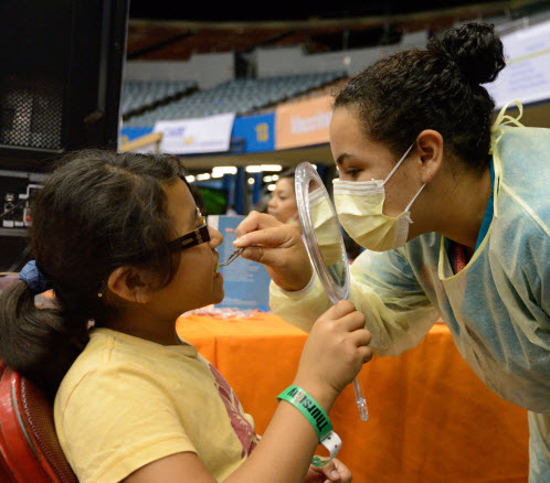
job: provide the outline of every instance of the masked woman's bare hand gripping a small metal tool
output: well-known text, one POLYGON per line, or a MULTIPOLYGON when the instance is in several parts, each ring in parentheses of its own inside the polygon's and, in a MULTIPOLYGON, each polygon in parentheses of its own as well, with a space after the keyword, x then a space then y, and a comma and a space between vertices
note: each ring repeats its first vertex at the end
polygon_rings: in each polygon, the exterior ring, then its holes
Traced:
POLYGON ((294 291, 307 286, 313 268, 296 226, 251 212, 237 226, 236 236, 233 245, 247 247, 242 257, 265 265, 272 280, 282 289, 294 291))

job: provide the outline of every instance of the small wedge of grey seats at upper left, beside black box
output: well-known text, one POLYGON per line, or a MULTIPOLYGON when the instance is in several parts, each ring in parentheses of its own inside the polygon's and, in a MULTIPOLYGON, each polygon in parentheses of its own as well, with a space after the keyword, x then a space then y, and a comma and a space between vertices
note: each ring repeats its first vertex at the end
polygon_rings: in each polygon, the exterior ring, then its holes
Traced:
POLYGON ((124 117, 197 89, 195 80, 124 80, 120 108, 124 117))

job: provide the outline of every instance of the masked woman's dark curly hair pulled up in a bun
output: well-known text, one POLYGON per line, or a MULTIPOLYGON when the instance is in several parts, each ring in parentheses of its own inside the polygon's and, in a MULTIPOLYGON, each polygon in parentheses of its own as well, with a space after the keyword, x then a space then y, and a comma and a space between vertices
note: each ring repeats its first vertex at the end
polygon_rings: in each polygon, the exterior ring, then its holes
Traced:
POLYGON ((432 37, 425 50, 379 60, 350 79, 334 108, 357 109, 364 135, 395 157, 424 129, 438 131, 445 150, 483 169, 490 147, 495 101, 482 84, 505 67, 494 26, 468 23, 432 37))

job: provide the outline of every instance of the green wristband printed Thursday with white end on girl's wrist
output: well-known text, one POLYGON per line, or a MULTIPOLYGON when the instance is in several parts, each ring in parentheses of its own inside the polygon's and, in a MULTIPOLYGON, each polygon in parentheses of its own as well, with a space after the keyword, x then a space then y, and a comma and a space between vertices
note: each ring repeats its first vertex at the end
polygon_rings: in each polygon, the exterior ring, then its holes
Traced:
POLYGON ((314 427, 319 438, 319 443, 329 451, 329 460, 315 457, 311 461, 315 466, 324 466, 338 454, 342 444, 340 437, 332 430, 332 423, 328 415, 309 394, 298 386, 288 386, 277 396, 277 400, 282 399, 292 404, 305 416, 314 427))

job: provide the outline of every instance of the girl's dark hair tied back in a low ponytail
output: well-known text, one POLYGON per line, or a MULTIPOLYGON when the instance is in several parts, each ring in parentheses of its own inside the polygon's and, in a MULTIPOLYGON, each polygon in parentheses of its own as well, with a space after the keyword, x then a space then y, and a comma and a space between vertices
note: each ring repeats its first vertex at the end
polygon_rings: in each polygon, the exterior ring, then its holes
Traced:
MULTIPOLYGON (((55 307, 36 308, 23 281, 0 297, 0 357, 53 398, 88 341, 88 322, 113 316, 104 291, 118 267, 159 275, 166 285, 179 258, 163 186, 183 178, 170 154, 82 150, 64 155, 32 206, 36 266, 52 281, 55 307)), ((184 178, 183 178, 184 180, 184 178)))

